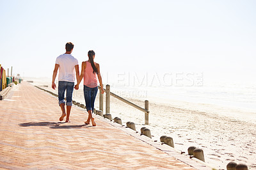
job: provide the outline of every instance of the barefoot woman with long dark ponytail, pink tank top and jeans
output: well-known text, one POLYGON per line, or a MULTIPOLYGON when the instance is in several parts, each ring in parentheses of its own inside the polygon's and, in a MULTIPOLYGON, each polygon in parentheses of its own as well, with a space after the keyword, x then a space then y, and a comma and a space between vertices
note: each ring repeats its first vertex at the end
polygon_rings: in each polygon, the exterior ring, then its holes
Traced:
POLYGON ((88 119, 84 123, 88 125, 92 120, 92 125, 96 126, 94 118, 92 117, 94 101, 98 91, 96 75, 98 76, 100 82, 101 93, 104 93, 104 89, 100 75, 100 65, 94 62, 95 52, 93 50, 89 50, 88 57, 88 61, 83 61, 82 63, 81 75, 77 81, 75 89, 79 88, 79 84, 84 78, 84 100, 86 104, 86 110, 88 112, 88 119))

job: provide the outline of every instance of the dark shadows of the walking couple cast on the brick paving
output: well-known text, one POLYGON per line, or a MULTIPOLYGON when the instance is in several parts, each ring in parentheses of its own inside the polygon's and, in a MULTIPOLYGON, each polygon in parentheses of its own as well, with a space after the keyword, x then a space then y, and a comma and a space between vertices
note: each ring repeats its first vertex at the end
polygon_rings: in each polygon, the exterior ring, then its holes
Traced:
POLYGON ((42 121, 42 122, 28 122, 28 123, 20 123, 20 127, 38 127, 38 126, 44 126, 44 127, 50 127, 50 128, 81 128, 81 127, 90 127, 84 125, 61 125, 65 122, 51 122, 51 121, 42 121))

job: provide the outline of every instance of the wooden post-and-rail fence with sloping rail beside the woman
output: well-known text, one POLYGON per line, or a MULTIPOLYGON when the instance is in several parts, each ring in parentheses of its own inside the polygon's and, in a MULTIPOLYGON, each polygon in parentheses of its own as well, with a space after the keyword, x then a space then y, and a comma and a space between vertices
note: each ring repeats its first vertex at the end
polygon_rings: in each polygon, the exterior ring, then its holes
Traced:
MULTIPOLYGON (((100 86, 99 86, 100 89, 100 86)), ((148 125, 148 100, 145 100, 145 108, 142 108, 136 104, 133 104, 132 102, 116 95, 115 93, 112 93, 110 91, 110 86, 106 85, 106 89, 104 89, 105 93, 106 93, 106 113, 110 113, 110 96, 117 98, 118 100, 121 100, 122 102, 125 102, 125 104, 129 104, 132 107, 138 109, 139 111, 142 111, 145 113, 145 125, 148 125)), ((101 89, 100 89, 100 97, 99 97, 99 109, 100 111, 103 111, 103 98, 104 98, 104 94, 101 93, 101 89)))

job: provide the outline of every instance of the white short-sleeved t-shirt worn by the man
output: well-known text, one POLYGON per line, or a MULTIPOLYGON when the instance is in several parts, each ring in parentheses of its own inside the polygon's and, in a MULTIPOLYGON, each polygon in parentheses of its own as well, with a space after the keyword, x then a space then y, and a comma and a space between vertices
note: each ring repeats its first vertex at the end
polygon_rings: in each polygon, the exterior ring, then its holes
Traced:
POLYGON ((61 54, 56 59, 56 64, 60 65, 59 81, 75 82, 75 66, 78 61, 71 54, 61 54))

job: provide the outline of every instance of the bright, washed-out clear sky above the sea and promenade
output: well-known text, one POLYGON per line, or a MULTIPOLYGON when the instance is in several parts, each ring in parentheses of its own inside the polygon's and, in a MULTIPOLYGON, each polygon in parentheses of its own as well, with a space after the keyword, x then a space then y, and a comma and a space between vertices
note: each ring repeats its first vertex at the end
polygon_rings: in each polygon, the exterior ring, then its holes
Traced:
POLYGON ((0 63, 51 77, 65 43, 101 72, 256 73, 256 1, 0 0, 0 63))

